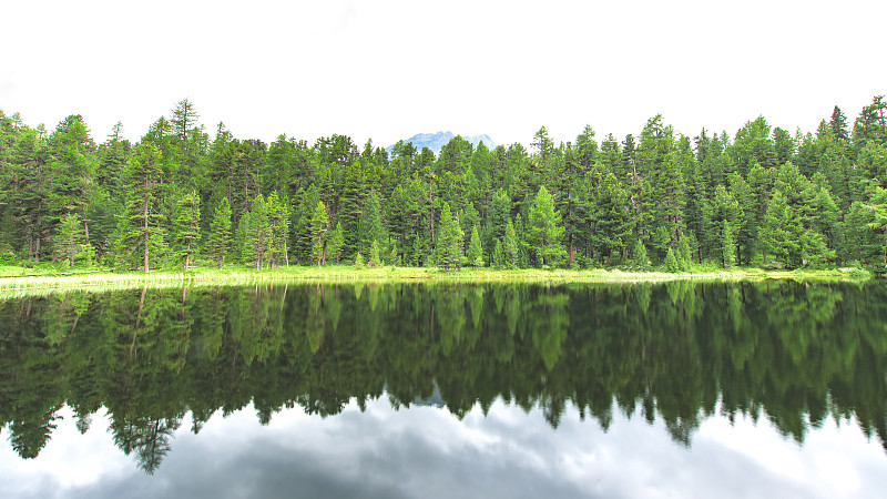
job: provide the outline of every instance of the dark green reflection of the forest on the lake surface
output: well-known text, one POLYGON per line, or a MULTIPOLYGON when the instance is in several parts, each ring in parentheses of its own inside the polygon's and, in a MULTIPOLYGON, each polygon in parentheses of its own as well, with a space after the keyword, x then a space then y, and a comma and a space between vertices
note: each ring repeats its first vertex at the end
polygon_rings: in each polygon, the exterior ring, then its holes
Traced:
POLYGON ((763 416, 798 442, 855 417, 884 445, 885 324, 880 283, 72 291, 0 303, 0 427, 33 458, 65 404, 81 432, 105 407, 149 473, 188 411, 196 434, 251 403, 267 424, 384 396, 439 396, 459 417, 538 406, 554 428, 568 404, 604 430, 661 418, 685 446, 715 414, 763 416))

